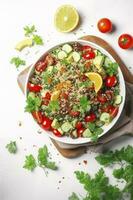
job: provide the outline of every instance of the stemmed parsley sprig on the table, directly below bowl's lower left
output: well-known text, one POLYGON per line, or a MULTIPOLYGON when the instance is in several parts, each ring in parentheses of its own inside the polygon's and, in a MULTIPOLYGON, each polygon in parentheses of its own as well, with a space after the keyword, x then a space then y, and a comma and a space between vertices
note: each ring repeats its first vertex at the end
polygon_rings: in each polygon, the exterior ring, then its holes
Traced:
POLYGON ((48 154, 47 146, 45 145, 44 147, 39 148, 39 150, 38 150, 39 166, 40 167, 46 167, 46 168, 49 168, 49 169, 52 169, 52 170, 56 170, 57 166, 56 166, 55 162, 48 161, 48 157, 49 157, 49 154, 48 154))

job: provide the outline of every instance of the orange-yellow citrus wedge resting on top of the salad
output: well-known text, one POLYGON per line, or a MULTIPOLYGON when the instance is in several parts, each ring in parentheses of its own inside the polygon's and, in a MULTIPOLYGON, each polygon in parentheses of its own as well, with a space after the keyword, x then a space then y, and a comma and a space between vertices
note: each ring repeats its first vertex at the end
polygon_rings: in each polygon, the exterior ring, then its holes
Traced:
POLYGON ((95 92, 97 93, 101 89, 103 84, 102 77, 96 72, 88 72, 85 75, 94 83, 95 92))

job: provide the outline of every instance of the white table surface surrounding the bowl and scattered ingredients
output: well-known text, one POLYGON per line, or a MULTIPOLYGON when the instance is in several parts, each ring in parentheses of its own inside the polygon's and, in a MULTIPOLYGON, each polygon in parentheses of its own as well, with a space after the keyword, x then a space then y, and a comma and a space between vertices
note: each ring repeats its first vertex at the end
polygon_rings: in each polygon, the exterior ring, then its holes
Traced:
MULTIPOLYGON (((45 42, 44 47, 33 48, 31 56, 27 55, 27 64, 36 60, 49 44, 58 40, 74 39, 84 34, 94 34, 111 43, 133 72, 133 50, 124 51, 117 45, 120 34, 133 34, 132 10, 132 0, 0 0, 0 200, 67 200, 72 191, 84 194, 73 172, 84 170, 94 174, 100 167, 94 159, 94 153, 88 152, 76 159, 65 159, 57 155, 55 147, 50 145, 50 139, 45 134, 39 135, 37 125, 29 114, 24 113, 25 99, 16 81, 18 73, 24 68, 17 71, 9 62, 11 57, 18 55, 14 46, 23 38, 23 27, 35 24, 45 42), (53 26, 56 8, 66 3, 74 5, 81 15, 82 24, 75 34, 59 33, 53 26), (113 21, 116 25, 115 32, 102 34, 97 30, 97 20, 102 17, 109 17, 113 21), (38 54, 35 54, 39 49, 38 54), (21 127, 18 125, 19 121, 22 122, 21 127), (9 154, 5 149, 10 140, 17 142, 16 155, 9 154), (53 159, 59 166, 58 171, 49 170, 48 177, 40 168, 34 172, 23 169, 25 155, 36 155, 38 147, 44 144, 48 145, 53 159), (87 160, 88 164, 85 165, 83 160, 87 160)), ((26 51, 21 54, 22 57, 25 57, 26 51)), ((133 143, 132 138, 121 138, 110 144, 110 148, 120 148, 129 143, 133 143)), ((110 177, 111 172, 111 169, 106 169, 110 177)), ((114 179, 111 178, 111 182, 114 182, 114 179)))

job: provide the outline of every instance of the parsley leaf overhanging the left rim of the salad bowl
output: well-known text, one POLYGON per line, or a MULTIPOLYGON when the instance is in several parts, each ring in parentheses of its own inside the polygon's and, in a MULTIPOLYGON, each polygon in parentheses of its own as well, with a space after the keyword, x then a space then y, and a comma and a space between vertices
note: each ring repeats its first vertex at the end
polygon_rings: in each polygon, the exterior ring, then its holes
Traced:
POLYGON ((27 97, 26 103, 27 103, 25 107, 26 112, 37 111, 41 106, 41 99, 39 97, 32 98, 29 96, 27 97))

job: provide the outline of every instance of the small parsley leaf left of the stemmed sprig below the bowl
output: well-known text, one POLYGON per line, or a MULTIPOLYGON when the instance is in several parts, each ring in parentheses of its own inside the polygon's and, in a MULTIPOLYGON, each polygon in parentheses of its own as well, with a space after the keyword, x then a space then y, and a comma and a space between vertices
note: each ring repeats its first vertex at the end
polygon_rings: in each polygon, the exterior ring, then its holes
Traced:
POLYGON ((23 168, 33 171, 36 168, 36 160, 32 154, 26 156, 25 164, 23 168))

